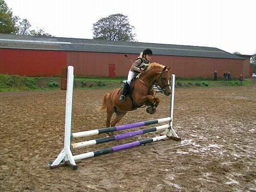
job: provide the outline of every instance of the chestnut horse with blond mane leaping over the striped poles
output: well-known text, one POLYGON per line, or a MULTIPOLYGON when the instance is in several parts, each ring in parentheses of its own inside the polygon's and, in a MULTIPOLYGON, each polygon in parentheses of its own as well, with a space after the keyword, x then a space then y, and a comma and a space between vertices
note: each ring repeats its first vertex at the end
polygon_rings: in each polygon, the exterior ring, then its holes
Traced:
MULTIPOLYGON (((154 114, 160 99, 154 96, 153 85, 158 84, 166 96, 171 95, 170 68, 159 63, 150 63, 146 71, 133 79, 131 95, 126 96, 124 102, 119 101, 122 88, 105 94, 100 110, 106 110, 107 112, 106 127, 115 126, 128 111, 142 106, 149 106, 146 111, 154 114), (110 123, 114 112, 116 114, 115 118, 110 123)), ((108 135, 113 136, 113 132, 108 135)))

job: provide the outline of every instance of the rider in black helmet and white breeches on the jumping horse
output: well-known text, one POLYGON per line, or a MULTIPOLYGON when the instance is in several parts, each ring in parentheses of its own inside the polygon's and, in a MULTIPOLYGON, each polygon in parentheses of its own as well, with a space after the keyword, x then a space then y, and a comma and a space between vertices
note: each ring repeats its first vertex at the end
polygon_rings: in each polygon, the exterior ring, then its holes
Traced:
POLYGON ((120 101, 125 101, 125 95, 129 90, 131 80, 136 77, 139 73, 143 72, 144 69, 147 69, 149 65, 149 60, 151 59, 153 52, 151 49, 145 49, 137 58, 137 60, 132 63, 130 71, 128 73, 127 81, 124 85, 124 88, 121 92, 121 96, 119 97, 120 101))

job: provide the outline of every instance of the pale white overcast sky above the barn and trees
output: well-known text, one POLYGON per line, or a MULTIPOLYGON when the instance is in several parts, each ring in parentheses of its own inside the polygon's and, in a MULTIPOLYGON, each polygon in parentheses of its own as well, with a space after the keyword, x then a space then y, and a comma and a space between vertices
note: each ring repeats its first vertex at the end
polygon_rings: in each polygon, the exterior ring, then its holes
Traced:
POLYGON ((5 0, 13 14, 56 37, 92 38, 92 24, 127 15, 136 40, 256 53, 256 0, 5 0))

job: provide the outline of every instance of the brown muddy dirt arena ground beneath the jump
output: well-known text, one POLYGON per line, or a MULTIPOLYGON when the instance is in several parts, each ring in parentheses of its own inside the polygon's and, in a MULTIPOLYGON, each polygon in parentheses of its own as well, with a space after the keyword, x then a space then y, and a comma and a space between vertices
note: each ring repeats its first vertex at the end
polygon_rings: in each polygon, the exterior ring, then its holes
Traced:
MULTIPOLYGON (((95 109, 108 91, 74 90, 73 132, 104 127, 105 114, 95 109)), ((141 108, 119 125, 167 117, 170 97, 158 95, 154 115, 141 108)), ((85 159, 75 171, 48 167, 63 148, 65 97, 65 91, 0 92, 0 191, 256 191, 255 83, 178 88, 173 125, 181 142, 168 139, 85 159)))

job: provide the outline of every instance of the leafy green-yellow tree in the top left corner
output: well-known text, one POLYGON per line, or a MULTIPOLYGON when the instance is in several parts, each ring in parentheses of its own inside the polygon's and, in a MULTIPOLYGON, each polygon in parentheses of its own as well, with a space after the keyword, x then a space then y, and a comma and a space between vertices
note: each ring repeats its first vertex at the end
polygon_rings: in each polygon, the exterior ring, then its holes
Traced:
POLYGON ((13 16, 13 11, 8 8, 4 0, 0 0, 0 33, 15 33, 15 22, 17 19, 13 16))

